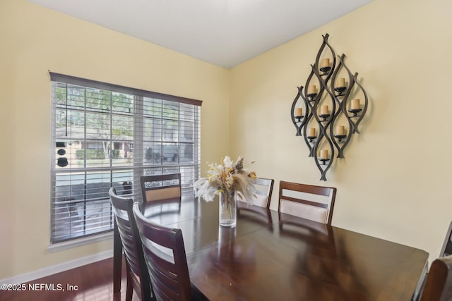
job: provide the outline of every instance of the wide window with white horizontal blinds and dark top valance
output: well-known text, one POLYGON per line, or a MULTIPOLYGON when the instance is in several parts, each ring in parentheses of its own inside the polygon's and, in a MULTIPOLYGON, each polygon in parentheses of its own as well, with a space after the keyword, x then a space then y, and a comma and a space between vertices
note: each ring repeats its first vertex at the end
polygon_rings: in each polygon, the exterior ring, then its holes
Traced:
POLYGON ((200 176, 201 101, 50 73, 52 233, 112 231, 108 190, 141 199, 143 174, 200 176))

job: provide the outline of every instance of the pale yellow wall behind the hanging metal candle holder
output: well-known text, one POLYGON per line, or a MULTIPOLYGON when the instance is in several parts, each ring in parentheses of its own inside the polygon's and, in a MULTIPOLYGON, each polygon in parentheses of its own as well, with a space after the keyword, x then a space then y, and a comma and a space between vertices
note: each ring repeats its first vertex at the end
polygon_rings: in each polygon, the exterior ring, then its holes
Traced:
MULTIPOLYGON (((232 154, 258 176, 338 188, 333 225, 437 257, 452 220, 451 1, 376 0, 231 70, 232 154), (370 106, 327 182, 290 107, 322 35, 367 91, 370 106)), ((302 17, 302 14, 300 15, 302 17)), ((278 206, 278 185, 271 207, 278 206)))

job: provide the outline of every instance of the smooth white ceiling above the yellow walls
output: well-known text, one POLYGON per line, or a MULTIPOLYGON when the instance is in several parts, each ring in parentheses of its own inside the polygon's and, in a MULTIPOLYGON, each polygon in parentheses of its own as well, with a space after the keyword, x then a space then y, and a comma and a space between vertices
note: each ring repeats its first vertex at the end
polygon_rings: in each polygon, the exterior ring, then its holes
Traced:
POLYGON ((225 68, 372 0, 29 0, 225 68))

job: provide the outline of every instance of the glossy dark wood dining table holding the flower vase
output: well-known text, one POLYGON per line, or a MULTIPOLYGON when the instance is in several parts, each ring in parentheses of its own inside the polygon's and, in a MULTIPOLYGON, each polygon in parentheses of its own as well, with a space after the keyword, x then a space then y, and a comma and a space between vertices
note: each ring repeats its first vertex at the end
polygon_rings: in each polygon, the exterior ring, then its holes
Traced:
POLYGON ((182 229, 191 284, 205 300, 408 301, 427 266, 415 247, 241 202, 234 228, 219 226, 218 200, 191 193, 144 214, 182 229))

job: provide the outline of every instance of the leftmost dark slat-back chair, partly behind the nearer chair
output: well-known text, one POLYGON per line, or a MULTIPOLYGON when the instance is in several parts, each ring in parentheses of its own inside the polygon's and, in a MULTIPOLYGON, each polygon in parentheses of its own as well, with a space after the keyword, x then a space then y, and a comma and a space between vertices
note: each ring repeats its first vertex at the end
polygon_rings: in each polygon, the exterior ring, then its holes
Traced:
POLYGON ((133 290, 140 300, 155 300, 143 257, 140 234, 133 216, 133 199, 117 195, 115 188, 110 188, 108 195, 114 212, 114 227, 119 231, 126 257, 126 300, 132 300, 133 290))

